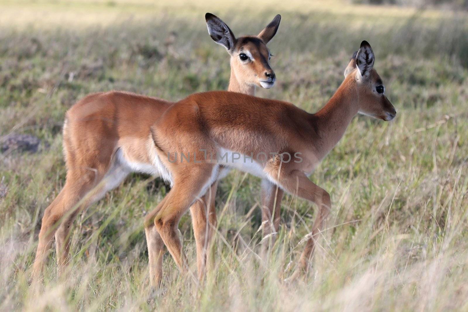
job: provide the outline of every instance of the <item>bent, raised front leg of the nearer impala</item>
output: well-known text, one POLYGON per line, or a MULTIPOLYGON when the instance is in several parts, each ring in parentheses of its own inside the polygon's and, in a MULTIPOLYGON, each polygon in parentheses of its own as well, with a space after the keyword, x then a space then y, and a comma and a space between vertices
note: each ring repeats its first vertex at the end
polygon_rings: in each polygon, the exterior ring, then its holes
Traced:
MULTIPOLYGON (((317 216, 312 226, 311 237, 307 240, 306 247, 299 260, 300 270, 302 272, 307 272, 309 260, 314 252, 315 241, 331 209, 330 195, 320 186, 310 181, 302 171, 293 170, 288 173, 285 173, 285 170, 282 171, 278 184, 287 192, 312 201, 318 206, 317 216)), ((298 273, 294 274, 294 276, 300 273, 299 271, 297 272, 298 273)))

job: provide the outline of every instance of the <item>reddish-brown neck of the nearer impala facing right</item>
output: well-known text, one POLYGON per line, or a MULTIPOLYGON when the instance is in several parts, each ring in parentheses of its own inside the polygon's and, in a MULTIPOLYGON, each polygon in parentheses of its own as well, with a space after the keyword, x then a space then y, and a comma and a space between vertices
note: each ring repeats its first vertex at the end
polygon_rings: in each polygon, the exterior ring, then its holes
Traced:
POLYGON ((313 114, 314 127, 319 134, 325 156, 343 137, 351 119, 358 113, 358 98, 354 81, 345 80, 320 111, 313 114))

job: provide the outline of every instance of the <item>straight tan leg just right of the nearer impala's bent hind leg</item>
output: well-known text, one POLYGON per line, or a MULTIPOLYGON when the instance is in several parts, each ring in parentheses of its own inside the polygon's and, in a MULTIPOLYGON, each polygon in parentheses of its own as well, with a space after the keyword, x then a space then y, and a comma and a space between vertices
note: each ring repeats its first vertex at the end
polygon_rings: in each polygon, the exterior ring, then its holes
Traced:
POLYGON ((193 232, 197 245, 198 279, 202 281, 206 275, 206 267, 214 267, 210 253, 210 243, 213 230, 216 228, 215 195, 218 182, 214 182, 203 197, 190 207, 193 232), (208 220, 208 223, 206 222, 208 220))

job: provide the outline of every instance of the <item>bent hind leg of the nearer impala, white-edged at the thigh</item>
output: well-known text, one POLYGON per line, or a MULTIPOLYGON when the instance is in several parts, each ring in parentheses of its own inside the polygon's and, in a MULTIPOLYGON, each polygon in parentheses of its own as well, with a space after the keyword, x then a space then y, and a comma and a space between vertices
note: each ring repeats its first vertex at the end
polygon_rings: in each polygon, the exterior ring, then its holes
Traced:
POLYGON ((212 185, 217 176, 215 170, 217 169, 213 164, 199 164, 183 170, 184 175, 175 178, 174 187, 148 218, 154 218, 154 224, 164 245, 182 272, 186 269, 186 261, 183 258, 177 226, 190 205, 212 185))

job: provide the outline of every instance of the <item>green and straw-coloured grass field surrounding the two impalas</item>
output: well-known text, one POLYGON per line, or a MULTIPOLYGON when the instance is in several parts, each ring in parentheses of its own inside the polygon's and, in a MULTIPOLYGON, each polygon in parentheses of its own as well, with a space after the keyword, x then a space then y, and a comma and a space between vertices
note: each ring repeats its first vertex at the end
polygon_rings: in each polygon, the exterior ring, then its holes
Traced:
MULTIPOLYGON (((468 14, 348 1, 0 1, 0 142, 43 141, 0 154, 0 310, 447 311, 468 310, 468 14), (333 209, 305 281, 295 267, 314 207, 286 196, 277 243, 261 249, 260 181, 233 171, 218 189, 216 267, 204 285, 179 278, 167 253, 160 292, 149 287, 143 218, 167 193, 134 174, 78 217, 72 272, 51 257, 44 288, 29 269, 44 209, 65 182, 64 114, 96 91, 178 100, 226 89, 227 52, 205 12, 234 34, 282 15, 269 44, 278 83, 260 97, 318 110, 367 40, 398 114, 358 116, 310 177, 333 209), (176 40, 166 45, 166 38, 176 40)), ((196 270, 190 215, 179 226, 196 270)))

